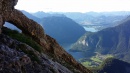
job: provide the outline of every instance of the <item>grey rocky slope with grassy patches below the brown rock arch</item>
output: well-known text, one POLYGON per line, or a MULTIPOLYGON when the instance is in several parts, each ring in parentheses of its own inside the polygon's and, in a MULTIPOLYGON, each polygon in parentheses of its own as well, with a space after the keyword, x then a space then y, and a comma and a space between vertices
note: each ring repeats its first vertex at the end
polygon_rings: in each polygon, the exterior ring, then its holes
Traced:
POLYGON ((0 73, 72 73, 32 47, 0 35, 0 73))

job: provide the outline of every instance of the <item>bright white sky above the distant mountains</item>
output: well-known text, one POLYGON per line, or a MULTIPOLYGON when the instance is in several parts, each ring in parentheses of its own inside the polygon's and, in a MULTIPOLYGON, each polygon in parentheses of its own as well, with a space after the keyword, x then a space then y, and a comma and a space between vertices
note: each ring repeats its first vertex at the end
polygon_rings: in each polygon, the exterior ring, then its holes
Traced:
POLYGON ((28 12, 130 11, 130 0, 18 0, 15 8, 28 12))

